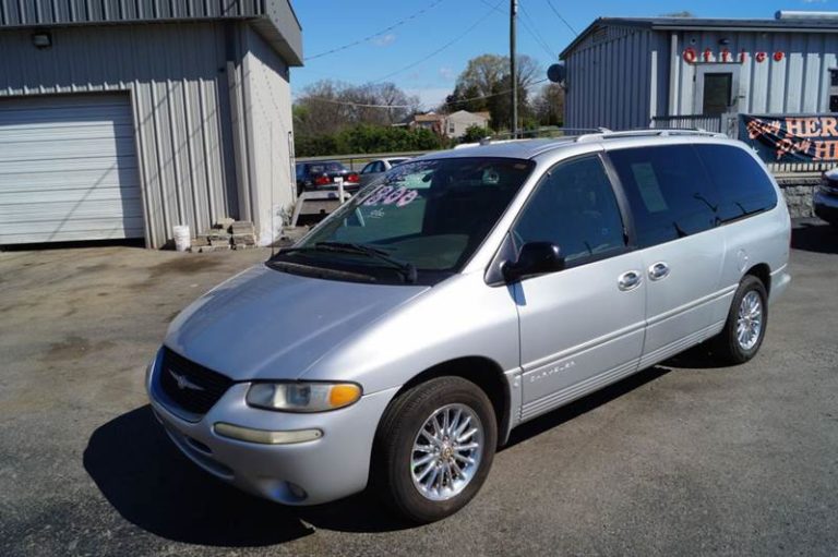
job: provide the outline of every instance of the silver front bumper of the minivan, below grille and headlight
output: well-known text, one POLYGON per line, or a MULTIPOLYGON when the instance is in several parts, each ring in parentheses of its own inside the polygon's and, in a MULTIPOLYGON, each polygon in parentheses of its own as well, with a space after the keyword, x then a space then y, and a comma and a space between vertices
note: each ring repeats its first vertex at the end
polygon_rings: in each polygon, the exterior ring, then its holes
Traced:
POLYGON ((159 356, 149 366, 146 388, 175 445, 216 477, 286 505, 318 505, 363 491, 379 420, 398 390, 366 395, 332 412, 295 414, 247 405, 250 384, 237 383, 206 414, 191 421, 166 402, 158 370, 159 356), (323 435, 306 443, 262 445, 219 436, 213 429, 219 422, 268 431, 320 429, 323 435))

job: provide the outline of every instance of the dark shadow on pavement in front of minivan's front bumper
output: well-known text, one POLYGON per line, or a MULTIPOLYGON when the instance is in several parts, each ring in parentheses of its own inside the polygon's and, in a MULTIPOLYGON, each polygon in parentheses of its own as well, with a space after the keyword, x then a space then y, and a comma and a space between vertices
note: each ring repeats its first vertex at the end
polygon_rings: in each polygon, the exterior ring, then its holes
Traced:
POLYGON ((84 468, 123 518, 177 542, 266 546, 314 533, 306 522, 358 532, 409 528, 388 517, 366 494, 331 505, 294 508, 242 493, 180 455, 148 405, 96 429, 84 451, 84 468))

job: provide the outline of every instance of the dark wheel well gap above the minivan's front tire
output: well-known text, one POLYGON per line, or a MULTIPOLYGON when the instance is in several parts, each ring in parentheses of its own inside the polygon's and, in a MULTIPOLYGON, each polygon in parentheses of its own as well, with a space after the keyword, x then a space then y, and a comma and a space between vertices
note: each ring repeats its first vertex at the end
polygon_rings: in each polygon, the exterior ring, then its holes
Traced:
POLYGON ((486 392, 492 402, 494 415, 498 419, 498 445, 506 443, 506 431, 510 423, 510 389, 501 366, 488 358, 458 358, 436 364, 402 386, 396 397, 420 383, 443 376, 463 377, 486 392))

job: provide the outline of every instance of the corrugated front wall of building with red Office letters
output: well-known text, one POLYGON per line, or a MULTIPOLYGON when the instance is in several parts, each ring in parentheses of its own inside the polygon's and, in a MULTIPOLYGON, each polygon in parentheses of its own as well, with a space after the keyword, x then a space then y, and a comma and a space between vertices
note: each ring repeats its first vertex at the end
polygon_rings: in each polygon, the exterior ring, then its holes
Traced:
MULTIPOLYGON (((657 32, 669 40, 670 33, 657 32)), ((680 78, 674 95, 673 114, 694 113, 695 75, 701 64, 690 64, 682 58, 686 47, 701 56, 705 48, 713 51, 711 60, 720 56, 720 41, 727 39, 733 57, 742 49, 747 56, 740 69, 739 112, 793 113, 828 112, 829 69, 838 68, 838 34, 835 33, 763 33, 763 32, 679 32, 677 48, 680 78), (756 52, 766 52, 764 62, 756 62, 756 52), (771 55, 783 52, 781 61, 771 55)), ((667 57, 669 63, 669 57, 667 57)), ((721 70, 720 70, 721 71, 721 70)))

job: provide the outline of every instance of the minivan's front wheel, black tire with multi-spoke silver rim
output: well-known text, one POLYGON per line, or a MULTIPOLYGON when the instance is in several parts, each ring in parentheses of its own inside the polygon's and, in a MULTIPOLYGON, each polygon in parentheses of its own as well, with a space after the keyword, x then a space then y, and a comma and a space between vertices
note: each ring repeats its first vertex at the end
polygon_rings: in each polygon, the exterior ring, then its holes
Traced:
POLYGON ((387 505, 411 522, 443 519, 462 509, 480 489, 496 444, 494 409, 482 389, 460 377, 431 379, 399 395, 384 412, 375 435, 372 486, 387 505), (446 413, 451 433, 465 427, 459 444, 451 444, 454 436, 438 444, 431 440, 431 420, 442 426, 446 413), (467 448, 475 444, 479 449, 467 448), (415 451, 418 446, 426 450, 415 451), (432 447, 436 452, 428 450, 432 447), (431 460, 420 464, 422 458, 431 460), (471 464, 464 460, 469 458, 471 464), (443 463, 436 464, 438 459, 443 459, 443 463), (450 462, 462 465, 462 471, 458 473, 450 462), (445 473, 446 465, 450 475, 445 473))

